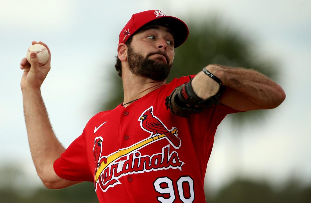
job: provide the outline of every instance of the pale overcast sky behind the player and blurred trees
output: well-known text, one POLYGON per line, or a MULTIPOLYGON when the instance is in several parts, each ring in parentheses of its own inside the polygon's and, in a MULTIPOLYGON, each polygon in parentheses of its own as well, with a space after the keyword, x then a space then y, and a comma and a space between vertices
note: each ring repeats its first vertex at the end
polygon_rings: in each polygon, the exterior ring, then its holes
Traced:
POLYGON ((41 40, 51 50, 52 68, 42 95, 53 129, 67 147, 96 113, 99 98, 111 93, 111 78, 105 72, 113 69, 119 32, 133 13, 150 9, 186 23, 217 14, 225 24, 249 36, 260 56, 281 62, 278 82, 285 90, 285 101, 268 110, 269 116, 262 122, 238 130, 232 130, 230 118, 225 118, 216 133, 207 183, 217 188, 235 175, 264 178, 274 185, 291 176, 310 182, 311 4, 307 0, 1 0, 2 167, 10 162, 16 166, 18 160, 18 168, 27 177, 35 177, 29 184, 39 182, 30 156, 19 84, 19 63, 31 41, 41 40), (12 144, 17 148, 12 150, 12 144))

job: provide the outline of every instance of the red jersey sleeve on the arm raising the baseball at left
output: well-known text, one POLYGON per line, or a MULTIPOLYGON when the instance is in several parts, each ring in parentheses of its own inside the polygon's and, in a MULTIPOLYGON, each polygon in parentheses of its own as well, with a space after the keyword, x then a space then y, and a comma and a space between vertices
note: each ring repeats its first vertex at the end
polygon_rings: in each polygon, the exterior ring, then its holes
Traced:
POLYGON ((55 173, 66 180, 94 182, 89 168, 85 132, 75 139, 61 157, 54 162, 55 173))

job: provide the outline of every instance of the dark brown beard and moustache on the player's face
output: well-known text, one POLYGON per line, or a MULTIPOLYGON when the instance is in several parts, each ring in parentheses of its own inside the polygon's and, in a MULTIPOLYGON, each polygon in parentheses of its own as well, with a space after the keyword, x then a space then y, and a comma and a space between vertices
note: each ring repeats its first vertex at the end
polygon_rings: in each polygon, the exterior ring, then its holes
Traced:
POLYGON ((146 57, 135 52, 131 46, 128 46, 128 66, 130 71, 138 76, 150 78, 155 81, 164 81, 169 77, 173 63, 169 64, 169 57, 165 52, 149 53, 146 57), (161 61, 148 59, 153 54, 161 54, 166 59, 166 64, 161 61))

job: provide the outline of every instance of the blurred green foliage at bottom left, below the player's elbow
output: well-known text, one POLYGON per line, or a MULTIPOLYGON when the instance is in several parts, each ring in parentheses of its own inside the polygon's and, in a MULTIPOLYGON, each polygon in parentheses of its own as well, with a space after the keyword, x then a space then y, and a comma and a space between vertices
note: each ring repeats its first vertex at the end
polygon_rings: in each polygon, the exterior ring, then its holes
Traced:
POLYGON ((1 203, 96 203, 94 183, 83 182, 62 190, 30 186, 29 177, 10 163, 0 168, 1 203))

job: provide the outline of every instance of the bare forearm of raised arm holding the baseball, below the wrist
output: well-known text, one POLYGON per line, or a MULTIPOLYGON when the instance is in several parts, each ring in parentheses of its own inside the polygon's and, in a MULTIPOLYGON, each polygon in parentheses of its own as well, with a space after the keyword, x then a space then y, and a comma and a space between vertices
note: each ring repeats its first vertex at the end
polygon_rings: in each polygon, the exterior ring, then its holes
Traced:
POLYGON ((53 162, 65 149, 54 135, 40 90, 26 88, 22 93, 30 152, 42 179, 44 171, 51 170, 53 162))

